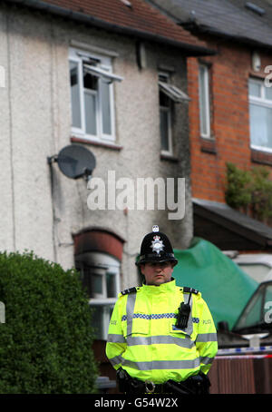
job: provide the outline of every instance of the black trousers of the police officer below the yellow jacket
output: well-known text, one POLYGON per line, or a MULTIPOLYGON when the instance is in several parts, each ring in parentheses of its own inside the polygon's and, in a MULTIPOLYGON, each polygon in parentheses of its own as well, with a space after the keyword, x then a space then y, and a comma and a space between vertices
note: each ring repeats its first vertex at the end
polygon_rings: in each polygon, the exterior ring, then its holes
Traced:
POLYGON ((209 378, 202 372, 181 382, 168 380, 163 384, 155 385, 150 381, 144 382, 136 378, 131 378, 124 369, 119 368, 117 371, 117 381, 119 390, 129 395, 146 393, 201 395, 209 394, 210 387, 209 378))

